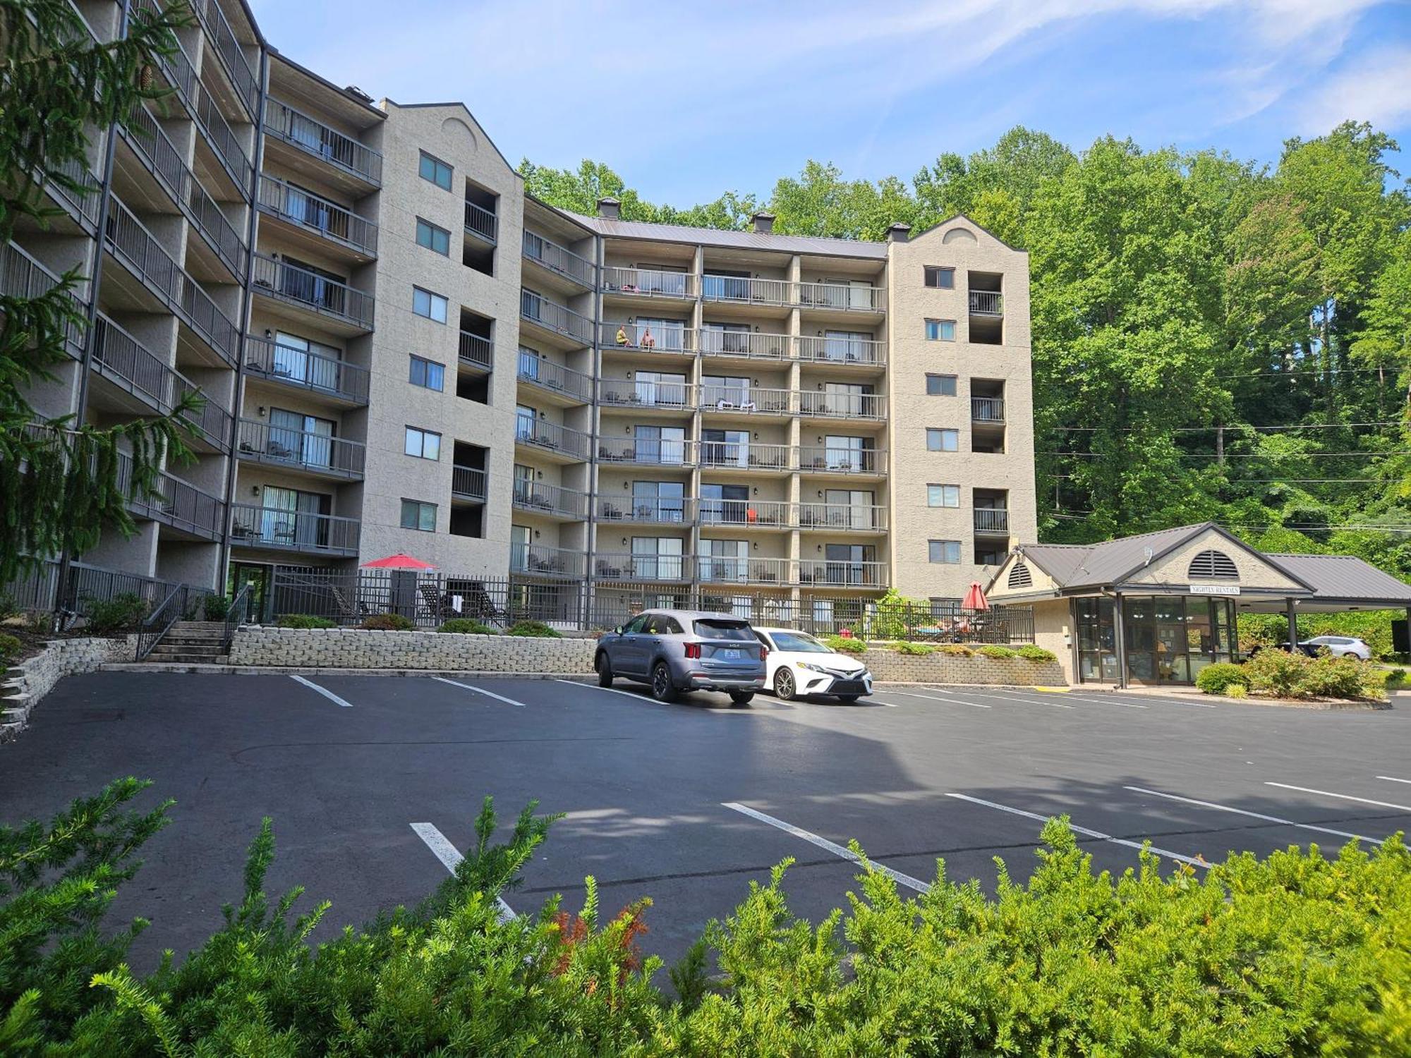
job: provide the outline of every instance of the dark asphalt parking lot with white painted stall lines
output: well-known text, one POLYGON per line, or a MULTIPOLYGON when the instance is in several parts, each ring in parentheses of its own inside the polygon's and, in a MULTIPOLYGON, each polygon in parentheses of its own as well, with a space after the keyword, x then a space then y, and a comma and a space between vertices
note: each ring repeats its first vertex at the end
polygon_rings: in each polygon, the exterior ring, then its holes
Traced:
MULTIPOLYGON (((1143 839, 1199 866, 1228 851, 1336 848, 1411 825, 1411 710, 1322 712, 1077 690, 880 690, 856 705, 689 694, 619 681, 95 673, 63 680, 0 746, 0 821, 48 815, 124 774, 174 797, 174 825, 116 904, 152 927, 134 952, 199 944, 238 896, 272 815, 271 889, 330 899, 323 934, 411 903, 464 849, 485 794, 504 822, 566 813, 507 893, 604 911, 650 896, 643 948, 677 958, 751 879, 792 856, 787 889, 821 917, 855 887, 848 839, 924 886, 1026 877, 1043 820, 1067 813, 1102 868, 1143 839)), ((1367 845, 1370 848, 1370 844, 1367 845)))

